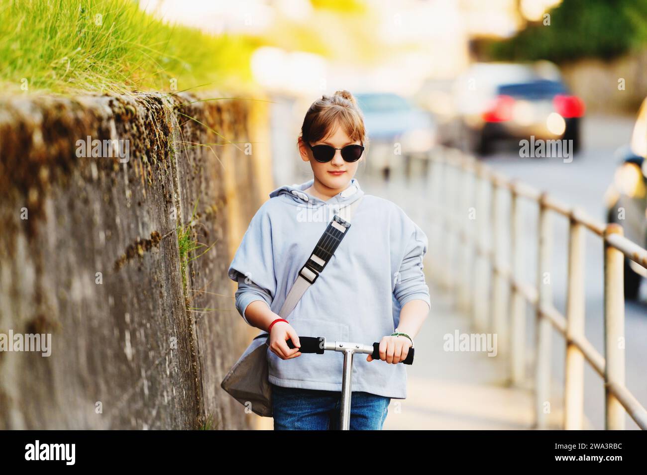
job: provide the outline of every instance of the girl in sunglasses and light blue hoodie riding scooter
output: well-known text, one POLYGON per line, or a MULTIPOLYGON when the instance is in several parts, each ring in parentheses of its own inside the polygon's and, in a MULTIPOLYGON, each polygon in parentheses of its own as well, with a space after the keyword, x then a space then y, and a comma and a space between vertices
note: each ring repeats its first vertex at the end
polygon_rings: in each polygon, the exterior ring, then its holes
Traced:
MULTIPOLYGON (((364 195, 355 176, 366 131, 347 90, 314 101, 298 149, 313 169, 300 185, 275 189, 252 218, 228 270, 236 308, 267 331, 274 429, 338 428, 343 356, 299 352, 299 335, 327 341, 380 342, 380 359, 353 364, 351 430, 381 429, 391 399, 406 399, 404 364, 430 311, 422 273, 427 237, 389 200, 364 195), (364 196, 321 275, 292 312, 283 302, 331 217, 364 196), (286 343, 292 339, 295 348, 286 343), (384 363, 386 362, 386 363, 384 363), (388 364, 387 364, 388 363, 388 364)), ((343 217, 343 215, 342 215, 343 217)))

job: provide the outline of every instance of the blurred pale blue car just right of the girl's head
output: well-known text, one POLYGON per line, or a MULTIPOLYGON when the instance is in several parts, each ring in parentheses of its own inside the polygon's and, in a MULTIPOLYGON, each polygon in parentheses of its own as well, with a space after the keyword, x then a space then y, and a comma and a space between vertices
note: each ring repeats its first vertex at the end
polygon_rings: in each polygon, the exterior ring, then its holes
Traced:
POLYGON ((426 158, 435 143, 430 113, 390 92, 364 92, 355 98, 369 136, 368 167, 388 178, 394 166, 408 169, 411 158, 426 158))

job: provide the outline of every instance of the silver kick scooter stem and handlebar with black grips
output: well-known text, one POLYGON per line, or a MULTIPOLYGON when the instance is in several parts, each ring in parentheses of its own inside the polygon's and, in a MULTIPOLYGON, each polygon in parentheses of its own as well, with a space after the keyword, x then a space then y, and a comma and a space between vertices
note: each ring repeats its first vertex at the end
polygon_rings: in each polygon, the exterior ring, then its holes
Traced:
MULTIPOLYGON (((342 403, 340 408, 340 428, 350 430, 351 425, 351 385, 353 383, 353 355, 361 353, 371 355, 374 360, 380 360, 380 344, 373 343, 373 346, 361 343, 348 343, 346 341, 335 341, 329 343, 323 337, 299 337, 302 353, 314 353, 323 355, 325 350, 342 352, 344 354, 344 375, 342 376, 342 403)), ((287 341, 287 346, 294 348, 292 340, 287 341)), ((413 364, 413 348, 409 348, 404 364, 413 364)))

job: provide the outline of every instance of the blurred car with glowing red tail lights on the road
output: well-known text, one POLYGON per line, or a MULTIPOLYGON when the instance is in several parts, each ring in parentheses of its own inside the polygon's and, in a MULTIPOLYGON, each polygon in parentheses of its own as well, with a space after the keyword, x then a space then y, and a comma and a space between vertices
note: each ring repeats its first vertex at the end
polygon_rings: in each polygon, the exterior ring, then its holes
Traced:
POLYGON ((580 149, 584 102, 552 63, 476 63, 457 79, 455 101, 464 150, 485 155, 496 140, 531 136, 580 149))

